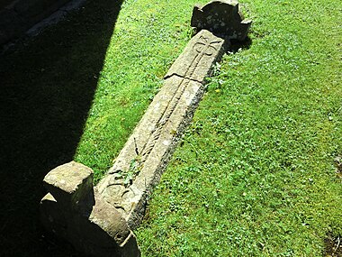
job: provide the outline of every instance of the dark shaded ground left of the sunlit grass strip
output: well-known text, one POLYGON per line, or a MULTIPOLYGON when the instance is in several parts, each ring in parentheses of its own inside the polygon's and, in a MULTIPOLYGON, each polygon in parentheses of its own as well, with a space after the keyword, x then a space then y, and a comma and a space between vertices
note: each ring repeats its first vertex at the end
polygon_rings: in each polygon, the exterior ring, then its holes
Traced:
POLYGON ((0 56, 0 256, 76 256, 42 235, 42 179, 71 161, 122 0, 87 1, 0 56))

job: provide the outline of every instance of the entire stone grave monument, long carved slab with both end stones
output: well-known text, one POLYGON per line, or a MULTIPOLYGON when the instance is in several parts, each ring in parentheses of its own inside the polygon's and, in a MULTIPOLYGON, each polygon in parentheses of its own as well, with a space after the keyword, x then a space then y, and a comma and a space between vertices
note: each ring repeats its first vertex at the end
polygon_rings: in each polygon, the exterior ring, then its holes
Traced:
POLYGON ((244 41, 251 21, 236 1, 193 8, 196 34, 165 76, 164 85, 130 135, 112 168, 93 186, 93 171, 71 161, 44 179, 40 202, 47 230, 89 256, 140 256, 133 230, 202 98, 205 78, 231 39, 244 41))

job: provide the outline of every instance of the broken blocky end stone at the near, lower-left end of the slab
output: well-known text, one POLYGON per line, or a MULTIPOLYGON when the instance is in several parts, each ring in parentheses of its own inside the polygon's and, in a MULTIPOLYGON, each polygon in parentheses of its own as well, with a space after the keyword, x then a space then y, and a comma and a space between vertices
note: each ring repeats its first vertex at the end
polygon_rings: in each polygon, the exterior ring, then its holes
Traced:
POLYGON ((94 189, 93 170, 75 161, 44 178, 42 225, 87 256, 140 256, 135 235, 121 214, 94 189))

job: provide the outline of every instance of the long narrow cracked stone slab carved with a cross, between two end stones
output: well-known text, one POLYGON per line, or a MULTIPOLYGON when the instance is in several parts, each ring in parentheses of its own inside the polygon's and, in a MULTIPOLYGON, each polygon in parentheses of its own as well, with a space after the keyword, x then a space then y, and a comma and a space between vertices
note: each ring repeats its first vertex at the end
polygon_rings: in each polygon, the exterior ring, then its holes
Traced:
POLYGON ((103 199, 126 218, 130 229, 139 225, 150 189, 166 169, 175 144, 202 97, 204 78, 220 60, 225 45, 226 41, 206 30, 193 37, 97 186, 103 199))

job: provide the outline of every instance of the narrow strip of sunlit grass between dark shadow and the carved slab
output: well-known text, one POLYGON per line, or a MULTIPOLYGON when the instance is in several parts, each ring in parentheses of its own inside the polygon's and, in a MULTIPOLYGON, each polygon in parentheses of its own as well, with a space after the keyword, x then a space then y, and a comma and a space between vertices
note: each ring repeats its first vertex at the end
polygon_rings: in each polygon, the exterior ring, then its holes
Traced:
POLYGON ((94 170, 96 181, 111 167, 189 41, 196 2, 127 0, 121 6, 75 157, 94 170))

